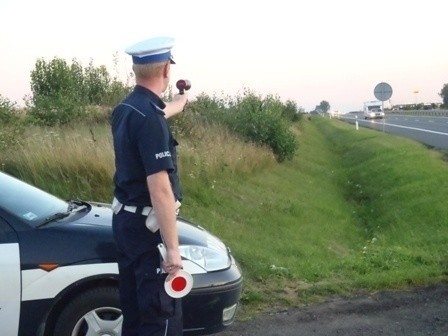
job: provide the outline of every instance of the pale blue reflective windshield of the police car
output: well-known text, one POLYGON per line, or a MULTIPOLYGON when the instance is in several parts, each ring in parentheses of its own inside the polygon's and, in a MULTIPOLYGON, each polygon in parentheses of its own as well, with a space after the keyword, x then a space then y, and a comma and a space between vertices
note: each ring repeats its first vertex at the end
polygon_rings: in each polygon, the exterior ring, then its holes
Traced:
POLYGON ((0 208, 38 226, 56 214, 66 213, 69 203, 0 172, 0 208))

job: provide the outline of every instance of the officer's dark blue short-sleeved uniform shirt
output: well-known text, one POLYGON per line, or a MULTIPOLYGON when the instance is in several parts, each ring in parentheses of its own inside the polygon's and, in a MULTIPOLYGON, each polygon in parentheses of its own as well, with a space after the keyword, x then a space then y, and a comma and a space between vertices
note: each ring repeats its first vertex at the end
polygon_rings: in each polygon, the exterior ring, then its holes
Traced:
POLYGON ((165 118, 165 103, 152 91, 136 86, 112 113, 115 149, 115 197, 123 204, 147 206, 147 176, 166 170, 173 193, 182 200, 177 176, 176 146, 165 118))

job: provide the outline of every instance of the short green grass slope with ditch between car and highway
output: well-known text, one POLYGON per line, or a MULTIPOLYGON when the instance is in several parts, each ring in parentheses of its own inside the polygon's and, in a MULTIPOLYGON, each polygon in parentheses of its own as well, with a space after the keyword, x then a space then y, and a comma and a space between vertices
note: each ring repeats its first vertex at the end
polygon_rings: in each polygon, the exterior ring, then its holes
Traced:
POLYGON ((338 121, 313 119, 300 131, 292 162, 222 177, 215 202, 185 210, 241 262, 244 315, 446 281, 443 155, 338 121))

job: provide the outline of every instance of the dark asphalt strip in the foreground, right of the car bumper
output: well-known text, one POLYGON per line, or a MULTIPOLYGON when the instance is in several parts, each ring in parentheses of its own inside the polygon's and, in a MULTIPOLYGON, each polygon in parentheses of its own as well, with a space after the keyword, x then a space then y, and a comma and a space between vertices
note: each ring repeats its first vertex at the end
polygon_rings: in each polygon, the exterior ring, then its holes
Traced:
POLYGON ((272 309, 220 336, 447 336, 448 284, 272 309))

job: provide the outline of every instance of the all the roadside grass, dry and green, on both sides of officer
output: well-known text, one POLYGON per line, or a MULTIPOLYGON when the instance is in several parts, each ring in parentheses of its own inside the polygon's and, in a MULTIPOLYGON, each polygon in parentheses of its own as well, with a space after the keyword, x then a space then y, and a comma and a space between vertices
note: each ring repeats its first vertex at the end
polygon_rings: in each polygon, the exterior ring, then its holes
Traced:
MULTIPOLYGON (((222 238, 241 263, 240 318, 448 279, 441 153, 337 120, 304 120, 296 131, 298 153, 282 164, 221 129, 180 141, 182 213, 222 238)), ((107 126, 51 132, 28 130, 19 148, 2 153, 2 170, 63 198, 109 201, 107 126)))

